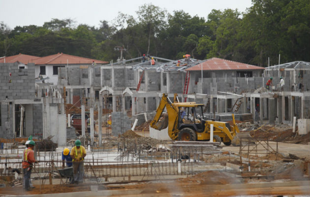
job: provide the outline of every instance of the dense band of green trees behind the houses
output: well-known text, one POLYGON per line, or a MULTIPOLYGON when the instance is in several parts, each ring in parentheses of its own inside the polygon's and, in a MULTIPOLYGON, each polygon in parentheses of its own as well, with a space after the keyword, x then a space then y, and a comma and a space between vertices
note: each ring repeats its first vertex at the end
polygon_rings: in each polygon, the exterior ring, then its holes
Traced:
POLYGON ((0 22, 0 57, 24 53, 36 56, 58 52, 111 61, 150 54, 182 59, 219 57, 267 66, 310 61, 309 0, 252 0, 245 13, 212 10, 207 20, 183 10, 172 14, 154 4, 138 7, 137 18, 119 13, 114 24, 75 25, 72 19, 52 19, 42 27, 0 22))

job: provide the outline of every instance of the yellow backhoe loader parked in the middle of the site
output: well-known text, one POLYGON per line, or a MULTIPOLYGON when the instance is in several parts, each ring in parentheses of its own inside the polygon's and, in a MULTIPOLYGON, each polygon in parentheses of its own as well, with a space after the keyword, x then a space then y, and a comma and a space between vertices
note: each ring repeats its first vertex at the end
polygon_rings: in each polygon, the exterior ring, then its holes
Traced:
POLYGON ((209 141, 210 127, 214 125, 214 139, 216 142, 223 142, 230 145, 232 139, 239 132, 235 123, 234 114, 233 125, 226 122, 206 120, 203 116, 203 104, 196 102, 178 102, 176 96, 174 102, 163 94, 150 126, 155 130, 162 130, 168 126, 168 135, 173 140, 182 141, 209 141), (159 121, 162 112, 166 108, 167 114, 159 121))

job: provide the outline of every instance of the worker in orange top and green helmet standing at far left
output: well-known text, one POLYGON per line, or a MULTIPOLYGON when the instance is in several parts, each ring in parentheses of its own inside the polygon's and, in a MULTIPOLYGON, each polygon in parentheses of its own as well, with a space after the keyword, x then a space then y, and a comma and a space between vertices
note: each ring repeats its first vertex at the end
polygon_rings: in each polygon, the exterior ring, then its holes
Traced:
POLYGON ((33 140, 30 140, 30 142, 27 145, 28 148, 25 149, 23 155, 22 167, 24 173, 24 184, 25 184, 24 189, 27 191, 31 191, 30 177, 31 177, 32 164, 36 163, 33 152, 33 147, 35 143, 33 140))

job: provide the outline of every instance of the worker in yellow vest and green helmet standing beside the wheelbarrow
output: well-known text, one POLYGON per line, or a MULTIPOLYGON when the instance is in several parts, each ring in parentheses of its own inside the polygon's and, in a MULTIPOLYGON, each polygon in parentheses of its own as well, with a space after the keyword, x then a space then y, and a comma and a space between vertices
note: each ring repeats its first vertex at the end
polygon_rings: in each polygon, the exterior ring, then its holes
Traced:
POLYGON ((86 150, 84 146, 81 146, 81 141, 77 139, 75 146, 71 148, 70 157, 73 162, 73 182, 83 183, 84 176, 84 158, 86 156, 86 150))

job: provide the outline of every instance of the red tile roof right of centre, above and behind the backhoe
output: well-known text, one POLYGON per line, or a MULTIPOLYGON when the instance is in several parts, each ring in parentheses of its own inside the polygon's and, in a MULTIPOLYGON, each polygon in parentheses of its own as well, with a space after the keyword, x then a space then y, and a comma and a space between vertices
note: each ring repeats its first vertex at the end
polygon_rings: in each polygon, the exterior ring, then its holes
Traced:
POLYGON ((199 65, 187 68, 186 71, 193 70, 263 70, 263 67, 248 65, 240 62, 224 60, 220 58, 211 58, 199 65))

